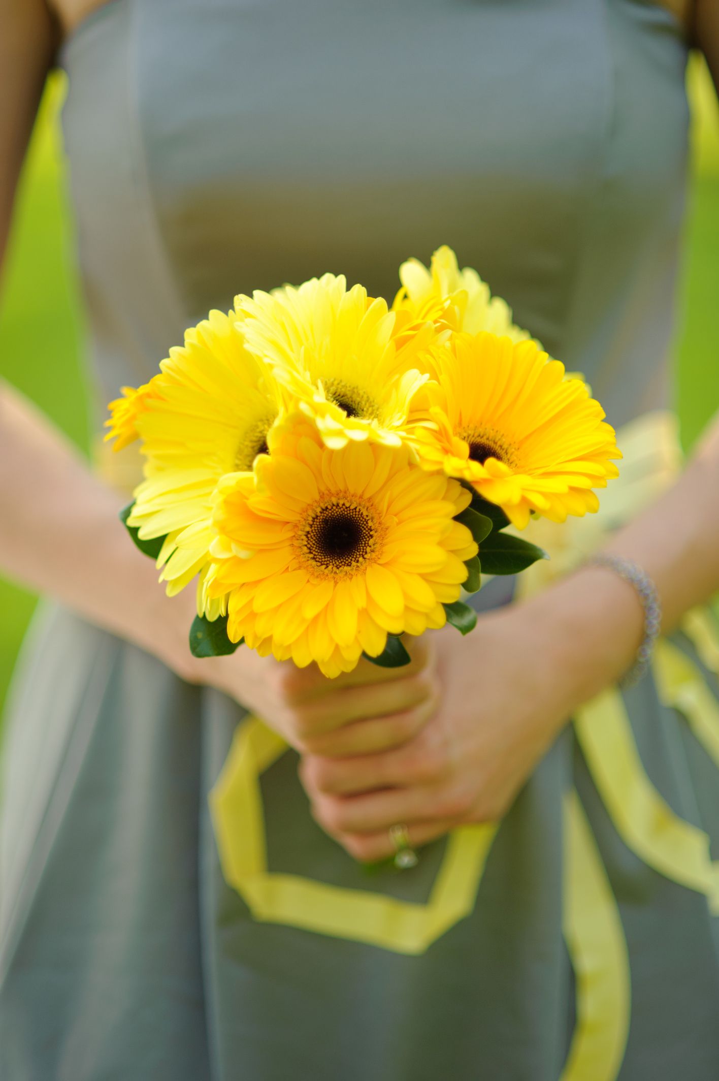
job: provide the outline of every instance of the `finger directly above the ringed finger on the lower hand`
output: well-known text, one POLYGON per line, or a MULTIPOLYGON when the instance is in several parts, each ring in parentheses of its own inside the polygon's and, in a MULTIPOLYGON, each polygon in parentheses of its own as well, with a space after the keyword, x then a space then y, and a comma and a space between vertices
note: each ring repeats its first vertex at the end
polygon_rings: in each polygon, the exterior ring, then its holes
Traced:
MULTIPOLYGON (((453 809, 452 809, 453 810, 453 809)), ((397 823, 435 822, 448 814, 439 789, 388 788, 361 796, 314 795, 312 814, 328 833, 376 833, 397 823)))

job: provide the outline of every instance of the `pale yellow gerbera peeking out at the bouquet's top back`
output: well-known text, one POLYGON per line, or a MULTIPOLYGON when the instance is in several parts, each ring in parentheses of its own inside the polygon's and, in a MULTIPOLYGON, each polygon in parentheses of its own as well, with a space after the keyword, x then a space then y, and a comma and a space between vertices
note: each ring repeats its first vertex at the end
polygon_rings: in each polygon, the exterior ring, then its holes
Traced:
POLYGON ((447 244, 434 253, 429 269, 412 258, 402 263, 399 277, 402 288, 395 297, 394 311, 468 334, 489 331, 512 342, 529 338, 528 332, 511 321, 509 305, 491 295, 476 270, 460 270, 457 257, 447 244))

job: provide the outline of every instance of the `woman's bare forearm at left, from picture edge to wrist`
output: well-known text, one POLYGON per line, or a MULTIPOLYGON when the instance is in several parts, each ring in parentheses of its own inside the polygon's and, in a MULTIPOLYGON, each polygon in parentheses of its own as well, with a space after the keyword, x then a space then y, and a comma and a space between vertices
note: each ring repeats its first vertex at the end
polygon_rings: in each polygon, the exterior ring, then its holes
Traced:
POLYGON ((0 568, 184 675, 192 590, 169 599, 105 486, 35 409, 0 386, 0 568))

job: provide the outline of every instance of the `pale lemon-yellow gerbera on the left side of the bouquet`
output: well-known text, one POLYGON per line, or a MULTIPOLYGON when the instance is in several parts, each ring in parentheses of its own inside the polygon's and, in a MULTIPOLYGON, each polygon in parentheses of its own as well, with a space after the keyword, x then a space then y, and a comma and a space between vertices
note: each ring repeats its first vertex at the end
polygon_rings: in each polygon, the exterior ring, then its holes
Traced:
MULTIPOLYGON (((128 525, 137 526, 143 540, 167 535, 158 566, 170 595, 208 563, 217 481, 252 469, 282 409, 281 387, 245 349, 230 315, 211 311, 188 330, 160 374, 129 398, 146 461, 128 525), (142 409, 134 404, 141 392, 142 409)), ((121 425, 118 410, 114 422, 112 431, 130 441, 130 422, 121 425)))

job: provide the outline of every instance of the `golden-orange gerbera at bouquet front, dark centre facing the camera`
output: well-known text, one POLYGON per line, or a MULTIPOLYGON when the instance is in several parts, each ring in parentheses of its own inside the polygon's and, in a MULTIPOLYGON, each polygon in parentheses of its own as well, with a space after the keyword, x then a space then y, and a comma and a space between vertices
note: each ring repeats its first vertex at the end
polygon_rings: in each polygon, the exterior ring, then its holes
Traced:
POLYGON ((332 451, 306 422, 278 442, 255 477, 217 489, 205 595, 229 595, 230 640, 334 677, 362 651, 378 656, 388 632, 443 626, 477 553, 453 520, 469 492, 424 472, 405 446, 332 451))

